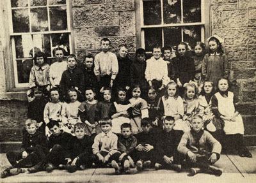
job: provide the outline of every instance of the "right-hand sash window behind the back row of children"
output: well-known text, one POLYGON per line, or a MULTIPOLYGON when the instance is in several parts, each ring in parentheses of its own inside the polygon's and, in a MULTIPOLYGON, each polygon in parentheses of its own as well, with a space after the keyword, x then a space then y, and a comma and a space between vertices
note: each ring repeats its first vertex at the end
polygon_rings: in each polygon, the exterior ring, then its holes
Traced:
MULTIPOLYGON (((156 44, 172 47, 184 41, 193 47, 205 38, 205 1, 139 0, 140 40, 146 52, 156 44)), ((138 14, 138 13, 137 13, 138 14)))

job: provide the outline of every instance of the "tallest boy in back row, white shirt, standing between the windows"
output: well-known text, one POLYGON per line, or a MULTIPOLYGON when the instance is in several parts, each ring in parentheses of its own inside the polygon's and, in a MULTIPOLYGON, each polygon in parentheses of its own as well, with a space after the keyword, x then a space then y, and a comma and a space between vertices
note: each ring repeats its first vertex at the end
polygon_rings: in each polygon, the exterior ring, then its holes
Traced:
POLYGON ((100 91, 103 87, 112 87, 113 81, 118 73, 118 61, 116 55, 109 52, 110 41, 108 38, 103 38, 100 41, 102 52, 95 55, 94 73, 100 85, 100 91))

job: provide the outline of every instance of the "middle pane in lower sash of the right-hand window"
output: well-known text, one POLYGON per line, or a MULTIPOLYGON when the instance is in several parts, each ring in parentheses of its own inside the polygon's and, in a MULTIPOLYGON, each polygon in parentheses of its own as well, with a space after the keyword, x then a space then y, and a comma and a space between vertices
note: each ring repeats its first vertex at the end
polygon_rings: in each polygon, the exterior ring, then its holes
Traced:
POLYGON ((175 47, 181 42, 181 27, 164 28, 164 47, 175 47))

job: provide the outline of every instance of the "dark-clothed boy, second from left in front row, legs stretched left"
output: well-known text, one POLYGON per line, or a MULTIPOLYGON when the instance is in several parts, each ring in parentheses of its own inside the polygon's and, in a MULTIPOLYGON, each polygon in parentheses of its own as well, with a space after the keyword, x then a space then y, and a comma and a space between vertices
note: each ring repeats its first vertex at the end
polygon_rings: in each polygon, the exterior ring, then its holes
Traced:
POLYGON ((72 135, 63 131, 60 127, 60 123, 57 121, 50 121, 47 124, 47 127, 52 133, 48 142, 48 148, 50 150, 43 161, 31 168, 28 168, 29 173, 35 173, 41 170, 51 172, 55 167, 65 164, 64 152, 67 146, 67 142, 70 138, 72 138, 72 135))

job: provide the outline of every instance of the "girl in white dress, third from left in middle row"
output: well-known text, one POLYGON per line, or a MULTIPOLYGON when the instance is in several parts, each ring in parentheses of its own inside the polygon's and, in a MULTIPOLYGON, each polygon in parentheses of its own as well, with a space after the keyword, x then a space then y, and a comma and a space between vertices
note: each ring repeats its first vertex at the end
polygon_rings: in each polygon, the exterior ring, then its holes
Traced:
POLYGON ((67 131, 73 136, 75 136, 74 125, 77 122, 81 122, 81 119, 78 115, 78 107, 81 105, 81 102, 77 100, 78 94, 79 92, 77 91, 76 88, 72 87, 68 89, 68 92, 67 92, 68 100, 67 100, 67 103, 64 103, 64 107, 67 113, 67 121, 68 121, 64 131, 67 131))

